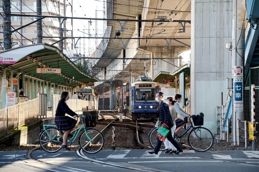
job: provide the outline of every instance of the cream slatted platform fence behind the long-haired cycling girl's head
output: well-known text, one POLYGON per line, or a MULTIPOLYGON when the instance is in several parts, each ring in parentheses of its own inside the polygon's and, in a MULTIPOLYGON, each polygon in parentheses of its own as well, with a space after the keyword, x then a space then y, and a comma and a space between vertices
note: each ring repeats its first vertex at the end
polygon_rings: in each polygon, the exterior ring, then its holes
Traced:
MULTIPOLYGON (((52 100, 52 115, 54 116, 56 114, 57 104, 59 103, 60 95, 54 94, 52 100)), ((95 101, 86 101, 81 99, 69 99, 67 100, 67 105, 74 112, 95 110, 95 107, 97 107, 95 101)))

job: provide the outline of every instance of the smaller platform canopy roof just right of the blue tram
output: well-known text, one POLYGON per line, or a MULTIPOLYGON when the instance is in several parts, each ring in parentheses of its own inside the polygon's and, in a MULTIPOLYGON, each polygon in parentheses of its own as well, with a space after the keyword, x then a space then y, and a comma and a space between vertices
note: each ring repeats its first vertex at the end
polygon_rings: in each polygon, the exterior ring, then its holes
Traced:
POLYGON ((185 65, 179 67, 174 72, 160 71, 153 78, 153 81, 154 82, 159 82, 160 84, 167 84, 167 83, 163 82, 164 78, 166 78, 166 79, 171 79, 172 78, 172 79, 174 79, 174 82, 171 82, 170 86, 175 88, 175 76, 179 77, 180 73, 184 72, 184 74, 185 74, 185 83, 189 83, 190 82, 190 75, 191 75, 190 70, 191 70, 191 65, 190 65, 190 63, 188 63, 188 64, 185 64, 185 65))

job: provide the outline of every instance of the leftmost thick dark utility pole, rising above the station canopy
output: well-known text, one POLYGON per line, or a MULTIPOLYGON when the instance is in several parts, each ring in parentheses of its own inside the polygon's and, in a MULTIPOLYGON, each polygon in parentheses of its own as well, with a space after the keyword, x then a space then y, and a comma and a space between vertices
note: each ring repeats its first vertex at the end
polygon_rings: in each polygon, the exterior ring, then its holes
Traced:
POLYGON ((4 14, 4 49, 12 48, 11 34, 11 16, 6 16, 6 14, 11 14, 11 2, 10 0, 3 0, 3 14, 4 14))

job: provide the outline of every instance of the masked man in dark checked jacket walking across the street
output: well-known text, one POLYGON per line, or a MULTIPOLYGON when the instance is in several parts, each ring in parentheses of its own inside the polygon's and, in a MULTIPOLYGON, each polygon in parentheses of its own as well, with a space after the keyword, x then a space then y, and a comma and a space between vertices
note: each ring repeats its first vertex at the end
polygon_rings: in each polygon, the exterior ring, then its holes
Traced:
MULTIPOLYGON (((174 153, 175 155, 179 155, 180 153, 183 153, 183 149, 181 148, 181 146, 175 141, 175 139, 172 136, 171 130, 170 128, 172 126, 174 126, 170 111, 169 111, 169 107, 166 104, 166 101, 164 100, 164 93, 162 92, 158 92, 156 94, 156 101, 160 103, 160 107, 159 107, 159 121, 162 121, 161 124, 166 124, 169 127, 169 133, 167 136, 167 139, 175 146, 175 148, 177 149, 176 153, 174 153)), ((156 142, 156 147, 153 151, 149 151, 148 153, 150 154, 157 154, 160 150, 160 147, 162 145, 162 141, 159 140, 159 138, 157 137, 157 142, 156 142)))

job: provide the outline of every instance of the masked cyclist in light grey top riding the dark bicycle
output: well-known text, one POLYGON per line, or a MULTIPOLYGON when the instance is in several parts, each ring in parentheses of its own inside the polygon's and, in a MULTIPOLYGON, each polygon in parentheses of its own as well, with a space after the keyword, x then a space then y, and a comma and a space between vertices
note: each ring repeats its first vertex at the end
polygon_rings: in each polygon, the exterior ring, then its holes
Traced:
MULTIPOLYGON (((176 113, 183 116, 183 117, 188 117, 190 118, 190 115, 187 114, 185 111, 183 111, 180 106, 179 103, 182 102, 182 95, 180 94, 176 94, 175 95, 175 109, 176 109, 176 113)), ((185 122, 182 119, 179 118, 175 118, 175 123, 176 123, 176 130, 175 133, 177 134, 177 136, 179 136, 179 132, 181 130, 181 128, 183 128, 185 126, 185 122)))

